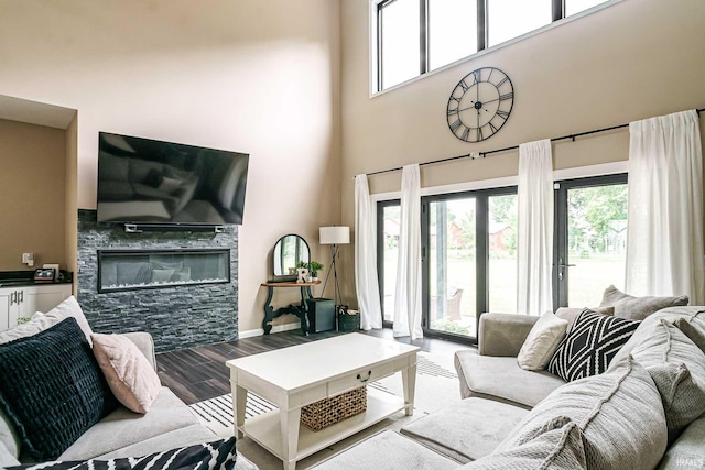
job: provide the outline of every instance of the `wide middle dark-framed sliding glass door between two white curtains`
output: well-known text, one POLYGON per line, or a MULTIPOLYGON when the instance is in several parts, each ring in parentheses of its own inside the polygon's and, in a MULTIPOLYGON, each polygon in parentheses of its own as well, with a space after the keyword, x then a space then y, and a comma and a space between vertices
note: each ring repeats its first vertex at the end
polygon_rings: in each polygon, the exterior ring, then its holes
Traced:
POLYGON ((479 315, 517 308, 516 188, 422 198, 424 327, 475 339, 479 315))

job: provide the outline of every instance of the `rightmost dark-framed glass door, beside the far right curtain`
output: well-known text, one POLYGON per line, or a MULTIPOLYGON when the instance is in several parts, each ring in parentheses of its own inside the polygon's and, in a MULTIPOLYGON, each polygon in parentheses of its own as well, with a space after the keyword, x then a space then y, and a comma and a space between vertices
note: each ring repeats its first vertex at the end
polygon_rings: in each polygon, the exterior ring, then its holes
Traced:
POLYGON ((627 175, 556 182, 553 306, 595 307, 625 288, 627 175))

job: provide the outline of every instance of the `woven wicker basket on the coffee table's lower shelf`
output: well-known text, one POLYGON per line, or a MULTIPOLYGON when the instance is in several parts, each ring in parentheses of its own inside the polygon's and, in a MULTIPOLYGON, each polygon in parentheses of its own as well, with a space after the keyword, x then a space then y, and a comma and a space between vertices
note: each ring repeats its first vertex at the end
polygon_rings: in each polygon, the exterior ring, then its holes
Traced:
POLYGON ((301 408, 301 424, 321 430, 367 409, 367 387, 350 390, 301 408))

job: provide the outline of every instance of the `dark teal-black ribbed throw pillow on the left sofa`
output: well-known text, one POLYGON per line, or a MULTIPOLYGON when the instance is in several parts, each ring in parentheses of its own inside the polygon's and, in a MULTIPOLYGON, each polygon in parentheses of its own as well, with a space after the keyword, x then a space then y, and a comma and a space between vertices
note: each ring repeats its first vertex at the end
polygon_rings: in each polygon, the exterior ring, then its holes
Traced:
POLYGON ((36 460, 56 459, 117 406, 74 318, 0 345, 0 407, 36 460))

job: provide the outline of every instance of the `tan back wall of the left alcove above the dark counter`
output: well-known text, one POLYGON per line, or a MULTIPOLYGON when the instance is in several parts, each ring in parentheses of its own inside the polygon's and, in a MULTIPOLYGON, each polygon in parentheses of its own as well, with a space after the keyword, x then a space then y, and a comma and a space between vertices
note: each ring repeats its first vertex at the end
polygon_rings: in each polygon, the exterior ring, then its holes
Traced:
POLYGON ((65 131, 0 120, 0 271, 66 265, 65 131))

